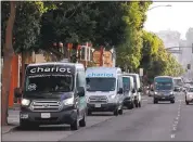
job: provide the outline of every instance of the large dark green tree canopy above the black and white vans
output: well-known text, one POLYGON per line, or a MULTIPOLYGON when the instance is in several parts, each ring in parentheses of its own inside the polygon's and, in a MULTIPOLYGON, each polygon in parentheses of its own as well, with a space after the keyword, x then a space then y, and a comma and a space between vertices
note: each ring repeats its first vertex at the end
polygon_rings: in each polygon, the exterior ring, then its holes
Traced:
POLYGON ((94 47, 117 46, 124 38, 126 24, 121 21, 120 2, 62 2, 56 10, 42 16, 41 44, 54 41, 83 43, 94 47))

